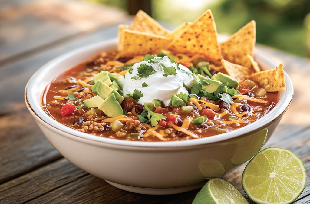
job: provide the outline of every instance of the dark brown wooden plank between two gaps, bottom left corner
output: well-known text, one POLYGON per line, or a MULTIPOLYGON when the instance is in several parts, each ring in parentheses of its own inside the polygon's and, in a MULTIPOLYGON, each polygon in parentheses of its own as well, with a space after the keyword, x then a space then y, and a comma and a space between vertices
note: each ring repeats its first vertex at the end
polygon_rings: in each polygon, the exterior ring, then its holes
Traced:
POLYGON ((37 171, 0 186, 0 203, 23 203, 86 176, 66 159, 60 159, 37 171))

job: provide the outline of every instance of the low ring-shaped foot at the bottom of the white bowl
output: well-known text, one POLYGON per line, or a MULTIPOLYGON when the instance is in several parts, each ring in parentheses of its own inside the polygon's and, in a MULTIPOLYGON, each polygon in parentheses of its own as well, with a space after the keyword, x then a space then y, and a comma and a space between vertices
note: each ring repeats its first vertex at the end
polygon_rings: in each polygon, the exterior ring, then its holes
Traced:
POLYGON ((134 186, 126 186, 122 184, 116 184, 111 181, 105 180, 108 184, 133 193, 140 193, 140 194, 148 194, 148 195, 169 195, 169 194, 176 194, 176 193, 184 193, 187 191, 195 190, 197 188, 201 188, 206 183, 199 183, 192 186, 185 186, 179 188, 140 188, 134 186))

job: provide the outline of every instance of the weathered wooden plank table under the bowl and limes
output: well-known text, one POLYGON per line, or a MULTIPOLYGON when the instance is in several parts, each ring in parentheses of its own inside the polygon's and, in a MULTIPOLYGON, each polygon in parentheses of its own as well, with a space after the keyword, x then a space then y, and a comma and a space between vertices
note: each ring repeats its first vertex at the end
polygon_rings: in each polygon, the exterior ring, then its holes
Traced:
MULTIPOLYGON (((79 9, 87 5, 66 2, 31 1, 30 6, 22 0, 1 2, 0 203, 191 203, 199 189, 154 196, 126 192, 107 184, 62 157, 34 122, 24 104, 24 87, 30 76, 66 51, 115 38, 117 24, 131 20, 123 12, 106 7, 87 7, 97 10, 93 14, 86 9, 81 16, 79 9), (104 12, 98 17, 100 9, 114 18, 106 17, 104 12), (61 12, 55 16, 55 10, 61 12), (67 12, 76 15, 76 19, 64 15, 67 12), (87 19, 82 22, 84 25, 80 24, 82 19, 87 19)), ((296 203, 310 203, 310 60, 257 47, 278 63, 284 63, 295 87, 293 103, 265 147, 289 149, 301 158, 308 171, 308 183, 296 203)), ((223 177, 243 194, 244 166, 223 177)))

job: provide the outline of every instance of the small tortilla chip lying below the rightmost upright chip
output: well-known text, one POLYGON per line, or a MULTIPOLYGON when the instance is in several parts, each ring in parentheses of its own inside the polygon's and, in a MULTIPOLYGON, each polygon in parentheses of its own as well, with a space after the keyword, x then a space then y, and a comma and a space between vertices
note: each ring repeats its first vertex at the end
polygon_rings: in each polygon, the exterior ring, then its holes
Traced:
POLYGON ((224 65, 224 69, 232 78, 237 79, 237 81, 243 81, 248 78, 248 76, 252 73, 251 69, 248 67, 241 66, 239 64, 234 64, 228 62, 227 60, 222 60, 222 64, 224 65))

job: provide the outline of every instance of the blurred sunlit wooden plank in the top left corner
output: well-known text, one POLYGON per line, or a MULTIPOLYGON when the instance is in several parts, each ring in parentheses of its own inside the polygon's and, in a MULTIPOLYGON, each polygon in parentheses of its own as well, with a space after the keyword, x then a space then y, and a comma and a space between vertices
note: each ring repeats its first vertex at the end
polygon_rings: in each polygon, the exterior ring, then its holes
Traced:
POLYGON ((4 4, 0 12, 0 62, 126 18, 124 11, 85 1, 31 0, 4 4))

